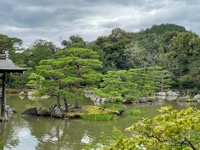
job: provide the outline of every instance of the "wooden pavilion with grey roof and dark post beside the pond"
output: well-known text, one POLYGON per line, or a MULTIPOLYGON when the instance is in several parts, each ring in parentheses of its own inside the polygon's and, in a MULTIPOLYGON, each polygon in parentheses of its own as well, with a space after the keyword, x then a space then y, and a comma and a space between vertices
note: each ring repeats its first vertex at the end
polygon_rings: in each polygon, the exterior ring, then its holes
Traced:
POLYGON ((7 119, 6 115, 6 74, 23 73, 26 69, 16 66, 9 58, 8 54, 0 54, 0 100, 1 117, 7 119))

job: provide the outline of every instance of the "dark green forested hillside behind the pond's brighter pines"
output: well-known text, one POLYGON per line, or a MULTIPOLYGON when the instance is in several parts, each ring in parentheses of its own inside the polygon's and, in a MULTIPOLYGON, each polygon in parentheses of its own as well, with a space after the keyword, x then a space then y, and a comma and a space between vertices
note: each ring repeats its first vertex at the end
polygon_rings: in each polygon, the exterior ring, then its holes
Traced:
MULTIPOLYGON (((98 68, 97 71, 102 73, 104 78, 95 83, 96 87, 100 87, 100 89, 106 88, 108 83, 103 83, 103 81, 105 82, 109 74, 114 75, 116 72, 124 70, 125 74, 120 76, 123 77, 130 74, 131 70, 133 72, 143 68, 144 73, 151 76, 149 68, 154 68, 154 73, 156 71, 157 74, 159 73, 159 76, 157 75, 159 79, 168 81, 168 77, 170 77, 170 82, 166 84, 166 87, 157 88, 157 91, 165 90, 170 86, 171 89, 190 94, 200 91, 200 37, 175 24, 153 25, 151 28, 136 33, 115 28, 108 36, 99 35, 92 42, 87 42, 78 35, 72 35, 69 39, 62 41, 62 48, 42 39, 36 40, 31 47, 26 49, 21 48, 20 44, 22 41, 18 38, 0 35, 0 51, 9 51, 9 57, 17 65, 28 68, 23 75, 12 74, 9 76, 8 86, 10 88, 28 88, 27 83, 30 80, 28 77, 36 71, 36 66, 41 65, 40 61, 58 60, 60 51, 84 48, 95 51, 102 62, 103 67, 98 68), (157 68, 162 68, 162 71, 156 70, 157 68)), ((95 67, 93 66, 93 68, 95 67)), ((160 83, 157 85, 161 85, 163 82, 159 79, 156 79, 160 83)), ((121 78, 121 81, 130 80, 131 78, 128 76, 126 79, 121 78)), ((148 91, 149 94, 151 90, 147 89, 146 92, 148 91)), ((105 89, 104 92, 106 92, 105 89)))

